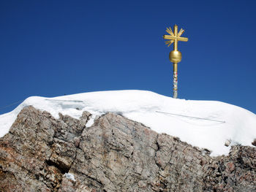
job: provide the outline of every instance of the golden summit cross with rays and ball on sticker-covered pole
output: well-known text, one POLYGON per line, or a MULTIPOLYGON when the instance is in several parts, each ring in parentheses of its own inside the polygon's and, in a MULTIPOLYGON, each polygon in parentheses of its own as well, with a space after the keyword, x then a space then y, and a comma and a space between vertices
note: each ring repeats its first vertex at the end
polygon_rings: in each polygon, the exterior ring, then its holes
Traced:
POLYGON ((187 42, 189 39, 186 37, 181 37, 184 30, 178 32, 178 26, 175 25, 171 28, 167 28, 166 32, 170 35, 164 35, 164 39, 169 39, 165 44, 169 47, 173 43, 173 50, 169 54, 170 62, 173 63, 173 98, 178 97, 178 63, 181 62, 181 52, 178 51, 178 41, 187 42), (174 31, 174 32, 173 32, 174 31))

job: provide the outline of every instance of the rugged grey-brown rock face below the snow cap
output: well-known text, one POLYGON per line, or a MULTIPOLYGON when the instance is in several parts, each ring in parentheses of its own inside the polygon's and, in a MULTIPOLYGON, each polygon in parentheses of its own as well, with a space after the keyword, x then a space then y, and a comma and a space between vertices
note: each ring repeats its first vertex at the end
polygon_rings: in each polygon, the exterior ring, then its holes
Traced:
POLYGON ((211 158, 121 115, 90 117, 25 107, 0 139, 0 191, 256 191, 255 147, 211 158))

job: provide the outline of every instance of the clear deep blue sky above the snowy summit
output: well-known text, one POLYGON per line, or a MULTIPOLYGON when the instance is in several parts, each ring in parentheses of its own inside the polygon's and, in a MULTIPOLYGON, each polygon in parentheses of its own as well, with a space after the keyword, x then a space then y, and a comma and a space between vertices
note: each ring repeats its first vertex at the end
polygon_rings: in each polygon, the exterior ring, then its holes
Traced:
MULTIPOLYGON (((178 98, 256 113, 256 1, 0 1, 0 108, 29 96, 172 96, 165 28, 184 28, 178 98)), ((9 112, 17 105, 0 110, 9 112)))

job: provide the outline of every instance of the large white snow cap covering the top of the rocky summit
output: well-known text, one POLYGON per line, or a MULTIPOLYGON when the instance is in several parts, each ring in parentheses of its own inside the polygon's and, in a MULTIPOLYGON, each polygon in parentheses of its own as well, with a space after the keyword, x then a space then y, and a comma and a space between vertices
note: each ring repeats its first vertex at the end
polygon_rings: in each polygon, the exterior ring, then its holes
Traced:
POLYGON ((29 105, 46 110, 55 118, 59 118, 59 112, 80 118, 83 111, 89 111, 92 118, 87 126, 93 125, 97 115, 115 112, 158 133, 170 134, 193 146, 211 150, 212 156, 227 155, 231 145, 252 146, 256 139, 256 115, 241 107, 220 101, 173 99, 151 91, 132 90, 55 98, 31 96, 12 112, 0 115, 0 137, 7 134, 20 110, 29 105), (230 145, 227 147, 225 143, 230 145))

